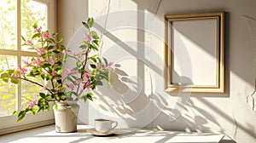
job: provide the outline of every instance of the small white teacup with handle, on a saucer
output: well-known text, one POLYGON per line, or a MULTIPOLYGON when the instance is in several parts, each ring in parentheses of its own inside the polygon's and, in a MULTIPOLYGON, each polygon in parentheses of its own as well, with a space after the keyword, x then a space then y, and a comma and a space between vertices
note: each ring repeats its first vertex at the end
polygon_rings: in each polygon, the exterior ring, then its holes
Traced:
POLYGON ((102 118, 95 119, 95 129, 100 133, 108 133, 110 130, 116 128, 117 125, 118 123, 116 121, 102 118), (113 125, 113 123, 115 124, 113 125))

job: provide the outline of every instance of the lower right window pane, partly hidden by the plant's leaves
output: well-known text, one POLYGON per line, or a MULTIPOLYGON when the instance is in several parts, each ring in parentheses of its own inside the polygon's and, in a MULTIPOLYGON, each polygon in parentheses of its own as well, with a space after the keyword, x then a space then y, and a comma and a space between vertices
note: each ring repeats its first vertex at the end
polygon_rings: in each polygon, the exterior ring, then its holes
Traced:
MULTIPOLYGON (((28 61, 28 63, 31 62, 32 57, 21 57, 21 60, 26 60, 28 61)), ((21 66, 24 66, 24 64, 22 63, 21 66)), ((26 68, 27 70, 29 70, 28 68, 26 68)), ((36 83, 40 83, 42 85, 44 85, 44 80, 42 80, 42 78, 35 78, 35 77, 27 77, 28 79, 31 79, 33 82, 36 83)), ((32 100, 36 100, 38 99, 38 93, 39 92, 43 92, 44 93, 44 89, 41 88, 38 85, 35 85, 33 83, 29 83, 26 81, 21 81, 21 109, 27 107, 27 105, 32 101, 32 100)))

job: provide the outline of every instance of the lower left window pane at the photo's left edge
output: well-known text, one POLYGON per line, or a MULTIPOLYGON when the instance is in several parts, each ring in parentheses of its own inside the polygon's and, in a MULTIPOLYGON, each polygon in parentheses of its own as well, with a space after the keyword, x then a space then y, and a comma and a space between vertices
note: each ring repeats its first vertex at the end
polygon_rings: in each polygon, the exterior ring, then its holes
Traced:
MULTIPOLYGON (((16 68, 17 58, 13 55, 0 54, 0 68, 4 70, 16 68)), ((0 116, 15 111, 16 85, 0 80, 0 116)))

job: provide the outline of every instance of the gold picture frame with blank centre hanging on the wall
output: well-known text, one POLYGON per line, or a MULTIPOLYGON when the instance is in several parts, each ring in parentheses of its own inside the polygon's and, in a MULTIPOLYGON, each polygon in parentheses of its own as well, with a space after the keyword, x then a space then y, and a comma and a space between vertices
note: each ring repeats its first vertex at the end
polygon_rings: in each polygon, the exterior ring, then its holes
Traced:
POLYGON ((224 12, 165 20, 166 91, 224 93, 224 12))

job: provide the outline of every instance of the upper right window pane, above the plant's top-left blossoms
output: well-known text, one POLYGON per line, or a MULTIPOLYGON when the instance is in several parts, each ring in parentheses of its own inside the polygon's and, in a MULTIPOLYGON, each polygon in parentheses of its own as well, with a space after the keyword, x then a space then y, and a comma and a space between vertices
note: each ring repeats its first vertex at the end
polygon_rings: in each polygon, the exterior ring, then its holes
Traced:
MULTIPOLYGON (((21 0, 21 35, 32 37, 34 29, 32 25, 38 21, 38 27, 42 26, 42 31, 47 29, 47 5, 32 0, 21 0)), ((28 46, 22 46, 22 50, 29 51, 28 46)))

